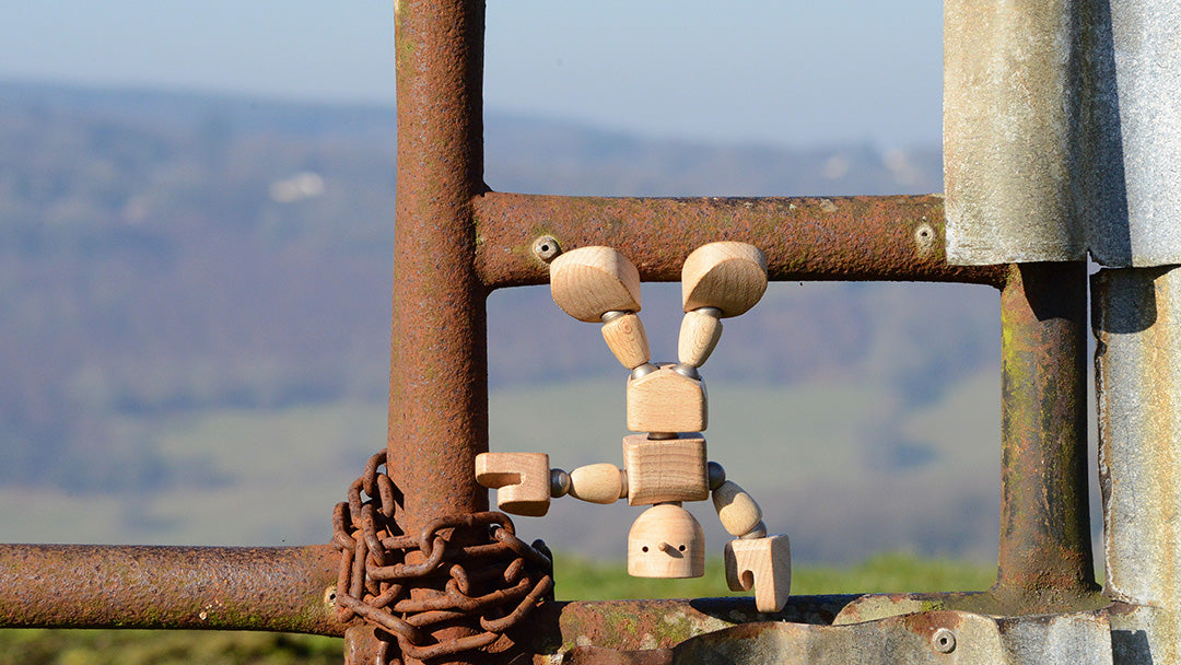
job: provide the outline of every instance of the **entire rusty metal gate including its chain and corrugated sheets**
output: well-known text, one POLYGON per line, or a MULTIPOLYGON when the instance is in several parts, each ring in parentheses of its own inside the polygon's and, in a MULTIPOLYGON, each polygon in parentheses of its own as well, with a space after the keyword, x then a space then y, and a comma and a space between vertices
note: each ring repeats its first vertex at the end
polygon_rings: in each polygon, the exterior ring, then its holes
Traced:
POLYGON ((484 4, 394 5, 389 439, 337 508, 333 542, 5 545, 0 625, 342 635, 358 664, 1181 661, 1181 259, 1168 242, 1181 2, 947 0, 946 198, 742 200, 489 191, 484 4), (548 281, 540 237, 644 256, 646 281, 677 281, 692 249, 736 240, 765 253, 772 280, 997 288, 996 585, 797 596, 778 614, 750 599, 553 601, 544 547, 487 513, 472 472, 488 450, 485 298, 548 281), (1092 298, 1105 589, 1088 517, 1088 249, 1114 256, 1092 298))

